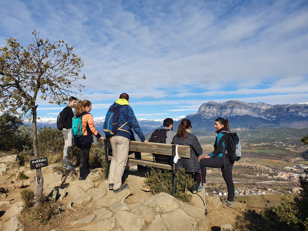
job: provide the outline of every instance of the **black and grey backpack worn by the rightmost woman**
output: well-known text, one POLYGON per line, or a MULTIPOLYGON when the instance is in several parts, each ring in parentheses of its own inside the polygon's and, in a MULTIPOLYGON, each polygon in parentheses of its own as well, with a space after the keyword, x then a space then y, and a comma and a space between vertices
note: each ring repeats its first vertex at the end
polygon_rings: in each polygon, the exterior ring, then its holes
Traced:
MULTIPOLYGON (((227 132, 226 135, 228 140, 227 156, 230 162, 240 160, 242 158, 240 138, 237 136, 236 132, 227 132)), ((223 150, 223 152, 225 152, 225 150, 223 150)))

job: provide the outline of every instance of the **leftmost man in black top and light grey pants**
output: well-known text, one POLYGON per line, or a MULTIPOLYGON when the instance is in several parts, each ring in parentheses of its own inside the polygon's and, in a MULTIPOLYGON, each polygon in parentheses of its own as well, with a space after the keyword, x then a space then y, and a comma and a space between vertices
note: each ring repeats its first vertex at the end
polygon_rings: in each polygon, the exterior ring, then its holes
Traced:
POLYGON ((71 96, 69 99, 69 104, 65 107, 61 113, 60 121, 63 125, 63 137, 64 137, 64 148, 63 148, 63 168, 72 170, 74 169, 75 163, 71 163, 70 155, 73 150, 73 136, 72 136, 72 119, 74 117, 74 113, 72 107, 76 104, 76 97, 71 96))

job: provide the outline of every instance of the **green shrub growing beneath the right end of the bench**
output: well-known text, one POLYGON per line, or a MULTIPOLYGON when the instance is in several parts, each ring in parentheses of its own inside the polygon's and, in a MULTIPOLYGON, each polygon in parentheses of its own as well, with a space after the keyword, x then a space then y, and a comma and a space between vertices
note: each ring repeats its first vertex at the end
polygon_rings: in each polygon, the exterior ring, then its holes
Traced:
MULTIPOLYGON (((168 193, 172 195, 172 172, 165 169, 153 169, 146 173, 145 184, 151 188, 152 193, 168 193)), ((191 195, 185 193, 186 189, 190 189, 193 186, 194 180, 191 175, 185 174, 184 169, 180 169, 176 172, 176 195, 175 197, 188 202, 191 199, 191 195)))

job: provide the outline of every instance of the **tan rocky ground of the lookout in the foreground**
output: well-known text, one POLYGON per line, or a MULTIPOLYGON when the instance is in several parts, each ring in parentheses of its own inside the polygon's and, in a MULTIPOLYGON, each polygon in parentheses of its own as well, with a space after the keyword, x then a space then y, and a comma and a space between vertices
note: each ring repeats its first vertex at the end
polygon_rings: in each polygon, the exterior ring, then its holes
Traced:
POLYGON ((23 202, 20 192, 34 188, 35 170, 18 168, 16 156, 0 157, 0 230, 235 230, 237 219, 244 219, 245 204, 236 202, 230 209, 218 197, 206 196, 205 216, 202 191, 193 194, 188 204, 166 193, 152 195, 144 185, 144 172, 128 172, 129 189, 115 195, 102 180, 99 168, 91 170, 86 180, 78 181, 79 169, 65 170, 61 164, 42 168, 44 193, 59 204, 57 219, 47 225, 21 219, 23 202), (17 180, 18 172, 27 180, 17 180), (56 222, 55 222, 56 221, 56 222), (223 224, 229 223, 229 224, 223 224))

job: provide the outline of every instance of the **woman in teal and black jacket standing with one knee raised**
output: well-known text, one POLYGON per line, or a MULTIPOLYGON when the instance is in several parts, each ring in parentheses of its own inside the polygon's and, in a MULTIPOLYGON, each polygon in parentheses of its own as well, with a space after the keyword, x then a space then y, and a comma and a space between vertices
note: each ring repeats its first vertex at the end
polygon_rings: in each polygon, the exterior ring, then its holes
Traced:
POLYGON ((227 150, 228 147, 228 139, 226 134, 227 132, 231 132, 229 121, 219 117, 215 120, 215 128, 216 133, 218 134, 214 144, 215 149, 209 155, 200 160, 202 179, 205 179, 206 176, 205 167, 221 168, 222 176, 224 177, 228 189, 228 198, 226 201, 223 201, 222 204, 227 205, 230 208, 234 208, 234 184, 232 180, 232 167, 234 162, 230 162, 227 153, 225 153, 225 158, 223 156, 223 149, 227 150))

